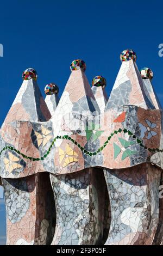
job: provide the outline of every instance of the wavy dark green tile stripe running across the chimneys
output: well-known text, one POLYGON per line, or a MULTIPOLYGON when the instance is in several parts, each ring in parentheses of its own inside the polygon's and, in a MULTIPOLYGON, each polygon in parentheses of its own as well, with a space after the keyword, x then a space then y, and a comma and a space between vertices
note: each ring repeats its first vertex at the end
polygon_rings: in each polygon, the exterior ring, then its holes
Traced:
POLYGON ((100 152, 106 147, 106 145, 108 145, 108 143, 109 143, 110 139, 112 138, 112 136, 114 136, 114 135, 117 134, 117 133, 121 133, 121 132, 123 132, 123 133, 128 133, 128 135, 132 136, 132 138, 136 140, 136 142, 140 145, 140 147, 143 147, 143 148, 147 149, 147 150, 150 151, 150 152, 163 152, 163 150, 158 149, 158 148, 156 148, 156 149, 154 149, 154 148, 153 148, 153 149, 147 148, 145 145, 142 144, 142 141, 141 141, 139 138, 137 138, 132 132, 130 132, 130 131, 127 130, 127 129, 121 129, 121 128, 120 128, 118 131, 114 131, 113 133, 111 133, 110 136, 108 137, 107 141, 104 142, 103 146, 100 147, 98 150, 96 150, 96 151, 94 151, 94 152, 87 151, 87 150, 84 149, 80 144, 78 144, 78 142, 74 141, 73 138, 71 138, 71 137, 68 136, 68 135, 64 135, 64 136, 57 136, 57 137, 55 137, 55 138, 53 139, 53 142, 52 142, 51 146, 50 146, 49 149, 47 150, 47 153, 46 153, 45 155, 43 155, 42 157, 40 157, 40 158, 34 158, 34 157, 26 156, 26 155, 22 154, 19 150, 15 149, 15 148, 13 148, 13 147, 10 147, 10 146, 4 147, 4 148, 1 150, 1 152, 0 152, 0 156, 1 156, 1 154, 2 154, 3 151, 9 149, 9 150, 15 151, 18 155, 23 156, 24 159, 29 159, 29 160, 31 160, 31 161, 40 161, 40 160, 44 160, 44 159, 46 159, 46 157, 47 157, 48 154, 50 153, 50 151, 51 151, 51 149, 52 149, 52 147, 53 147, 53 145, 54 145, 54 143, 55 143, 55 141, 56 141, 57 139, 67 139, 68 141, 71 141, 73 144, 77 145, 77 147, 78 147, 80 150, 82 150, 84 154, 89 155, 89 156, 95 156, 95 155, 97 155, 98 153, 100 153, 100 152))

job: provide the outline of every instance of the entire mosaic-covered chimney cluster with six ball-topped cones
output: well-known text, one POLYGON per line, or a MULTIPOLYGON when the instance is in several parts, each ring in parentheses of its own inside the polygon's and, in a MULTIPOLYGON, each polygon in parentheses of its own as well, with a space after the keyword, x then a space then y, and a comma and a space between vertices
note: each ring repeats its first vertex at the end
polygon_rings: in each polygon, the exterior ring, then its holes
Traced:
POLYGON ((23 84, 1 127, 8 245, 161 245, 162 110, 149 68, 121 53, 109 99, 74 60, 58 87, 23 84))

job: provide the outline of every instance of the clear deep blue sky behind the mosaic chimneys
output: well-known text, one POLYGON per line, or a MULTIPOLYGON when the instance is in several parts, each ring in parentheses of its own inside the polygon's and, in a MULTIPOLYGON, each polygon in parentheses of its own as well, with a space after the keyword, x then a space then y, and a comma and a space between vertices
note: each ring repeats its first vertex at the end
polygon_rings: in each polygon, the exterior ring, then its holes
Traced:
MULTIPOLYGON (((154 72, 153 85, 163 105, 163 2, 140 0, 1 1, 0 123, 21 86, 22 71, 34 68, 43 93, 55 82, 64 90, 73 59, 82 58, 91 82, 106 78, 108 94, 120 68, 120 53, 133 48, 139 68, 154 72)), ((4 243, 4 204, 0 200, 0 244, 4 243)))

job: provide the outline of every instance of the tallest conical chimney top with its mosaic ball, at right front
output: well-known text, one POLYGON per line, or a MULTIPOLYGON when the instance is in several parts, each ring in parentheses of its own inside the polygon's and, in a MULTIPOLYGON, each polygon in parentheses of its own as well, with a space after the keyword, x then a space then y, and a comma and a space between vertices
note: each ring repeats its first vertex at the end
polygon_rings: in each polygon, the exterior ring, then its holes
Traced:
POLYGON ((145 93, 143 80, 135 63, 136 53, 133 50, 124 50, 120 59, 121 68, 112 88, 106 108, 115 108, 123 105, 135 105, 145 109, 155 109, 145 93))

